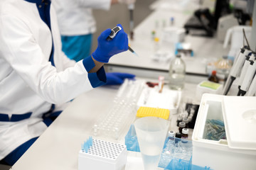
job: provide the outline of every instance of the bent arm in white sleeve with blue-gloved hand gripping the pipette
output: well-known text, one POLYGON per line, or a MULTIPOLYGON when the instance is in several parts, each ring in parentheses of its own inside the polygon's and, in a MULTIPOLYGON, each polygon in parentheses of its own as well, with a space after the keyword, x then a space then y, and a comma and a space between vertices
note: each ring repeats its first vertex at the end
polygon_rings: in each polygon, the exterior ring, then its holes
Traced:
POLYGON ((53 67, 48 61, 46 53, 36 42, 34 38, 36 35, 31 33, 31 23, 27 22, 26 18, 18 18, 19 16, 10 14, 2 15, 0 18, 1 57, 9 62, 14 72, 38 96, 50 103, 70 101, 85 91, 105 84, 106 76, 104 68, 101 67, 102 64, 108 62, 112 55, 128 48, 128 40, 124 36, 126 33, 119 31, 120 34, 117 33, 112 41, 106 42, 102 37, 106 37, 107 32, 110 33, 109 30, 106 30, 98 38, 100 43, 92 55, 97 62, 94 62, 92 57, 87 57, 85 60, 75 63, 74 67, 60 72, 56 69, 58 63, 56 63, 56 67, 53 67), (125 45, 120 49, 122 47, 120 45, 115 47, 118 43, 125 45))

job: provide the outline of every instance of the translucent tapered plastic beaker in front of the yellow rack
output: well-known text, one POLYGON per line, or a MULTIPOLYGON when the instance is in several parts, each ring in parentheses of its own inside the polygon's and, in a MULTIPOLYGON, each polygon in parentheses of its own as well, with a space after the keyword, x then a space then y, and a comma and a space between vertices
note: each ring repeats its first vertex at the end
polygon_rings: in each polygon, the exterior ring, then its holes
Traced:
POLYGON ((168 125, 168 121, 156 117, 144 117, 135 121, 134 127, 142 152, 144 170, 157 169, 168 125))

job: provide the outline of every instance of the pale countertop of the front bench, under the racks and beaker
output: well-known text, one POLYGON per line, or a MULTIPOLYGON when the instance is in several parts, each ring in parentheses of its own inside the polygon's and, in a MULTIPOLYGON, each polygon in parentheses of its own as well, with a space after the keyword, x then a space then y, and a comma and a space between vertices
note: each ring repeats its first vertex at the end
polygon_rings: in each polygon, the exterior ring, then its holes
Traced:
MULTIPOLYGON (((92 135, 95 121, 110 108, 118 89, 119 86, 102 86, 75 98, 12 169, 77 170, 82 142, 92 135)), ((196 84, 185 84, 182 93, 186 98, 193 98, 196 93, 193 89, 196 84)), ((172 116, 171 129, 177 130, 176 115, 172 116)), ((124 144, 124 139, 120 143, 124 144)), ((126 170, 134 169, 142 169, 142 159, 138 153, 129 152, 126 170)))

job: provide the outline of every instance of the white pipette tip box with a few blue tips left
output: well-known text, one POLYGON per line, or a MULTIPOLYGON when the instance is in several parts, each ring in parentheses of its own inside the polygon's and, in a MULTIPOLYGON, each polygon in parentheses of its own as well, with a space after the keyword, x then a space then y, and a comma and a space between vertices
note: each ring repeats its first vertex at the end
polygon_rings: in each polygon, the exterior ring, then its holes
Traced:
POLYGON ((126 162, 125 145, 92 139, 87 149, 82 145, 78 156, 78 170, 122 170, 126 162))

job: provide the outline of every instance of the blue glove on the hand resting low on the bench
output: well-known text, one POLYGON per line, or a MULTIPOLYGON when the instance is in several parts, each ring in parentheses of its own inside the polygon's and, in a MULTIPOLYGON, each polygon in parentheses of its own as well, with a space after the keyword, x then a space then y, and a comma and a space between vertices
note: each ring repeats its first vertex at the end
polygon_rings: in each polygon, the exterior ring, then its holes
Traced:
POLYGON ((107 83, 105 85, 115 85, 122 84, 124 79, 134 79, 134 74, 129 73, 120 73, 120 72, 111 72, 106 73, 107 83))

